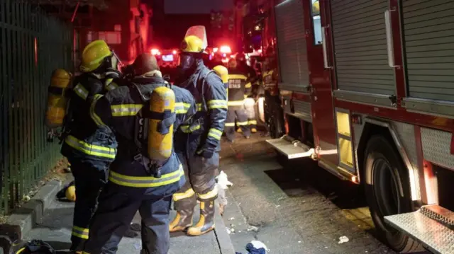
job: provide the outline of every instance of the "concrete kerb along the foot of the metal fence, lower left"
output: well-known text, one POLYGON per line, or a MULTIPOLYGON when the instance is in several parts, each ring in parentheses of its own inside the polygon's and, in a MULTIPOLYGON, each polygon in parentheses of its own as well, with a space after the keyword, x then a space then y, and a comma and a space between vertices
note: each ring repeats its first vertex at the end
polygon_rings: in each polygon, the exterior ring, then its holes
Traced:
POLYGON ((35 224, 43 222, 46 209, 55 200, 55 195, 61 189, 60 180, 51 180, 40 187, 40 190, 26 204, 13 210, 6 225, 0 226, 0 234, 11 238, 23 238, 35 224))

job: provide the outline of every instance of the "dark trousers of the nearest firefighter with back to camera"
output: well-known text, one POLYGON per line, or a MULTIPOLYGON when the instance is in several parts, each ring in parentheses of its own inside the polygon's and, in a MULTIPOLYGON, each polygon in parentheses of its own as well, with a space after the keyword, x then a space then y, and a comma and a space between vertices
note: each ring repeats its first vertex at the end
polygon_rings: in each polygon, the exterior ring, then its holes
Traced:
POLYGON ((126 187, 109 181, 99 196, 84 254, 114 254, 137 211, 142 218, 142 248, 147 254, 167 254, 169 213, 180 183, 160 187, 126 187))

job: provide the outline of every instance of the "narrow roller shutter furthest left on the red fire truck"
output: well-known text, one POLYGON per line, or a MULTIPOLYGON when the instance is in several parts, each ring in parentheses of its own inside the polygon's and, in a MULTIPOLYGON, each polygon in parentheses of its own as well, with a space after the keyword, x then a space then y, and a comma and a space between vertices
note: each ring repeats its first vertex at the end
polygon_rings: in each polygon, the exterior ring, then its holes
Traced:
POLYGON ((306 92, 309 86, 304 13, 301 0, 289 0, 275 7, 277 49, 281 83, 279 88, 306 92))

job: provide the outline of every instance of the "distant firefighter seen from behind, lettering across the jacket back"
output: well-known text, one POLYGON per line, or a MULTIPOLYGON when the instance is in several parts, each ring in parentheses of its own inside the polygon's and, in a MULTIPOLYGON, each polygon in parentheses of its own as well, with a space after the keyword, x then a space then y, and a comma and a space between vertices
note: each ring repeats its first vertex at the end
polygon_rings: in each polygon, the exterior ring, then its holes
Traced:
POLYGON ((235 140, 235 120, 246 139, 250 137, 248 115, 245 111, 245 98, 250 93, 251 84, 243 71, 238 69, 236 59, 228 61, 228 112, 226 119, 226 137, 228 142, 235 140))

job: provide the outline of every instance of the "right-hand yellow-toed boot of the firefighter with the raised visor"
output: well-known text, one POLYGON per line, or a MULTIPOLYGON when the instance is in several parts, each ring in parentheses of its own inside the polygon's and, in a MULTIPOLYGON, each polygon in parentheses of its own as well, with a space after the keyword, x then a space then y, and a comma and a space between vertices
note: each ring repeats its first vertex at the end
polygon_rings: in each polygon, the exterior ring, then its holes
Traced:
POLYGON ((200 202, 200 219, 187 229, 189 236, 201 236, 214 229, 214 200, 200 202))

